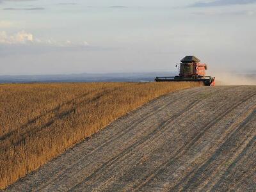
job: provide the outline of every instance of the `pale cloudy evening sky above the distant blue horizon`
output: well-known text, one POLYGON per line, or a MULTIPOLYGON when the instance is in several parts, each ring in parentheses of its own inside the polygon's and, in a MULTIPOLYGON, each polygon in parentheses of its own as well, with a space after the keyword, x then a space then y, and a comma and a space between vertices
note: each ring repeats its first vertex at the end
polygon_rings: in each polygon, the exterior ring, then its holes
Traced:
POLYGON ((0 0, 0 75, 256 72, 256 0, 0 0))

